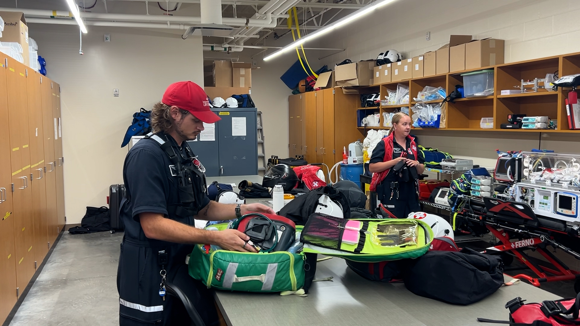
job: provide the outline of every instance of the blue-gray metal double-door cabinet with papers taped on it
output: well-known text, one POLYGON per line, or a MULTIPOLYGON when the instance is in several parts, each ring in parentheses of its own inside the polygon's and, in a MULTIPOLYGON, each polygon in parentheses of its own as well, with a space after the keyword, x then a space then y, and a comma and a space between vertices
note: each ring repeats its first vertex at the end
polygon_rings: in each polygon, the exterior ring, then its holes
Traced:
MULTIPOLYGON (((258 174, 258 135, 256 108, 213 110, 222 118, 215 123, 215 140, 198 136, 189 145, 205 166, 206 176, 258 174), (218 111, 219 110, 219 111, 218 111)), ((205 136, 211 136, 206 134, 205 136)))

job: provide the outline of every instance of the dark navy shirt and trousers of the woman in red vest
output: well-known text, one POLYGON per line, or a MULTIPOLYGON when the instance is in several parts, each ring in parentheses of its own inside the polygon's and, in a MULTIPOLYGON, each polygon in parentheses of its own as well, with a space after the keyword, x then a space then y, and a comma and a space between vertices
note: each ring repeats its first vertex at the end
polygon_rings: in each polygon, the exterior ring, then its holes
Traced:
MULTIPOLYGON (((407 144, 405 145, 407 148, 401 147, 396 141, 393 140, 393 158, 398 158, 403 155, 403 153, 407 153, 407 158, 409 160, 417 160, 420 164, 425 164, 425 158, 421 154, 420 151, 417 152, 417 156, 415 157, 412 154, 412 151, 409 152, 409 148, 411 147, 411 139, 407 138, 407 144)), ((383 162, 385 158, 385 139, 380 140, 380 142, 376 145, 375 149, 372 150, 372 156, 370 163, 379 163, 383 162)), ((376 192, 378 194, 378 199, 385 205, 394 205, 394 209, 391 208, 390 211, 394 213, 398 218, 407 218, 408 213, 412 211, 419 211, 419 197, 416 193, 415 188, 415 180, 409 180, 408 182, 400 182, 397 180, 397 174, 390 169, 389 173, 385 177, 382 183, 378 184, 376 192), (399 182, 398 183, 398 200, 393 198, 391 200, 391 182, 399 182)), ((396 194, 394 194, 396 197, 396 194)))

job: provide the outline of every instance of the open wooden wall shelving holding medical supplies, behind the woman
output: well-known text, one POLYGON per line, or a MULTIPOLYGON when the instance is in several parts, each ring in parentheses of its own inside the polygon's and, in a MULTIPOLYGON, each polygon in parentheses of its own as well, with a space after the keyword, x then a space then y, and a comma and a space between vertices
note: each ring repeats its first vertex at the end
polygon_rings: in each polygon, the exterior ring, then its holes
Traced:
MULTIPOLYGON (((580 130, 570 130, 570 127, 568 126, 564 100, 567 97, 568 92, 570 92, 570 88, 559 88, 555 92, 541 89, 539 92, 499 95, 501 94, 502 89, 517 89, 514 86, 519 86, 521 79, 527 81, 533 80, 534 78, 544 78, 546 74, 554 74, 556 72, 559 76, 579 74, 580 52, 361 87, 361 94, 369 90, 372 90, 373 92, 378 91, 380 92, 381 99, 385 99, 387 89, 394 90, 397 88, 397 84, 403 84, 409 88, 409 99, 411 101, 410 104, 380 106, 380 127, 367 127, 367 129, 388 129, 389 127, 383 127, 383 113, 392 112, 396 108, 408 107, 409 114, 412 115, 412 107, 416 104, 413 97, 416 97, 417 93, 425 86, 441 86, 445 88, 449 94, 455 90, 456 85, 463 86, 462 74, 479 70, 494 70, 494 95, 466 97, 463 99, 456 99, 455 103, 447 103, 446 128, 414 129, 436 131, 580 133, 580 130), (529 116, 548 115, 550 119, 557 121, 558 127, 555 130, 501 129, 501 124, 507 122, 508 114, 527 114, 529 116), (494 118, 494 128, 480 128, 480 120, 484 117, 494 118)), ((429 101, 425 103, 440 102, 441 101, 429 101)), ((361 129, 362 131, 364 127, 358 127, 358 129, 361 129)))

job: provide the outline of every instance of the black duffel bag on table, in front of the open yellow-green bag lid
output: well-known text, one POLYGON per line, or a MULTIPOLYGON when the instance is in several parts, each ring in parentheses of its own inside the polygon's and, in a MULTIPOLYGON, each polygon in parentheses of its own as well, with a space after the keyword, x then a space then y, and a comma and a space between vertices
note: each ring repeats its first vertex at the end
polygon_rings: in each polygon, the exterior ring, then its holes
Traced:
POLYGON ((405 287, 416 295, 453 305, 469 305, 493 294, 503 284, 499 256, 473 249, 428 251, 404 274, 405 287))

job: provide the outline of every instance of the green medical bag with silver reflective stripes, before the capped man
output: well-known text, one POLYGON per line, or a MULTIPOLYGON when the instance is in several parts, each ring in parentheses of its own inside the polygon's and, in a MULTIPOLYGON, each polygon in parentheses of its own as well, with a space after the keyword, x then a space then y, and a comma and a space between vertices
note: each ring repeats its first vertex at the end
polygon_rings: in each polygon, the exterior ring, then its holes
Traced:
MULTIPOLYGON (((218 230, 228 223, 214 224, 218 230)), ((302 226, 296 227, 302 230, 302 226)), ((304 256, 287 251, 235 252, 195 245, 189 274, 210 288, 245 292, 298 291, 304 286, 304 256)))

